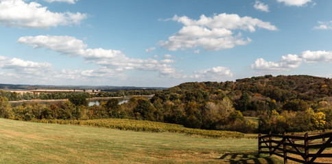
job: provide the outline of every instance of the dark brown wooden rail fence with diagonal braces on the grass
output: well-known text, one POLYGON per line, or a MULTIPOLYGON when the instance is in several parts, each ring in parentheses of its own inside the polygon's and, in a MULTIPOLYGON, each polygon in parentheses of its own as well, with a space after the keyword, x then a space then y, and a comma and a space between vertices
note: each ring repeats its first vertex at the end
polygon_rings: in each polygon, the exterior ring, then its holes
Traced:
MULTIPOLYGON (((259 134, 259 154, 267 153, 283 157, 284 163, 287 160, 305 164, 315 163, 317 158, 329 158, 332 163, 332 154, 322 154, 325 148, 332 148, 332 131, 322 133, 305 133, 305 135, 276 135, 271 132, 268 135, 259 134), (309 151, 310 150, 310 151, 309 151), (287 156, 296 154, 298 158, 287 156)), ((326 164, 326 163, 325 163, 326 164)))

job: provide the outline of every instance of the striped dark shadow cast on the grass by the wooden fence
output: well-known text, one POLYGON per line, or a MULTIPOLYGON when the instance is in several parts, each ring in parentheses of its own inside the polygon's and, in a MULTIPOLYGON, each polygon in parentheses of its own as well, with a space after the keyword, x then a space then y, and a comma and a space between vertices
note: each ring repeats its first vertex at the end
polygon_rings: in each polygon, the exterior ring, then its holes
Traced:
POLYGON ((233 163, 244 163, 244 164, 281 163, 280 160, 278 160, 274 157, 271 158, 269 156, 259 155, 254 152, 226 153, 226 154, 223 154, 219 159, 223 160, 224 162, 231 163, 231 164, 233 164, 233 163))

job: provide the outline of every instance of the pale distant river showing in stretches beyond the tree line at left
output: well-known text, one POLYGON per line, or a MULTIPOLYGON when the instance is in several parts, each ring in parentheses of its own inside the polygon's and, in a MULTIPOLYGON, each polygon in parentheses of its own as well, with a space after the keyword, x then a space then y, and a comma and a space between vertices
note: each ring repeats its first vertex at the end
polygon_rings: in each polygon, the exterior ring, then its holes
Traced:
MULTIPOLYGON (((148 99, 151 99, 153 97, 153 95, 149 95, 149 96, 140 96, 140 97, 146 97, 148 99)), ((129 101, 129 99, 132 98, 132 96, 124 96, 121 98, 117 98, 119 100, 119 105, 126 103, 129 101)), ((113 99, 112 97, 110 98, 88 98, 88 105, 89 106, 93 106, 93 105, 100 105, 100 102, 106 102, 107 100, 113 99)), ((64 101, 64 100, 21 100, 21 101, 10 101, 10 105, 12 105, 12 107, 18 107, 19 105, 22 105, 23 102, 27 102, 27 103, 33 103, 33 102, 39 102, 40 104, 46 104, 46 105, 50 105, 52 103, 55 102, 59 102, 59 101, 64 101)))

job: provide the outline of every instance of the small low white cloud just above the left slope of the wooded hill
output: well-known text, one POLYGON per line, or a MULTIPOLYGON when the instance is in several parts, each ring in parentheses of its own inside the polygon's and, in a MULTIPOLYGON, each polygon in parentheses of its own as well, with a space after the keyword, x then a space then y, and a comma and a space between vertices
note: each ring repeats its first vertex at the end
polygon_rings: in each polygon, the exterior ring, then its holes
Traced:
POLYGON ((225 77, 233 77, 233 73, 227 67, 217 66, 206 70, 194 72, 193 78, 202 79, 203 81, 221 81, 225 77))

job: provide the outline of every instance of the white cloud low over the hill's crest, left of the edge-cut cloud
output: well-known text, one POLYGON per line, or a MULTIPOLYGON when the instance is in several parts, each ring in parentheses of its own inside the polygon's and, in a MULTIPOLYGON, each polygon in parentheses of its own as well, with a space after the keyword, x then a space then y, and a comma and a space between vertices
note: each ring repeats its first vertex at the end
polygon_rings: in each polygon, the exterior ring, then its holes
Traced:
POLYGON ((253 70, 258 72, 281 72, 298 68, 302 64, 302 59, 298 55, 282 56, 279 61, 265 61, 259 58, 251 65, 253 70))

